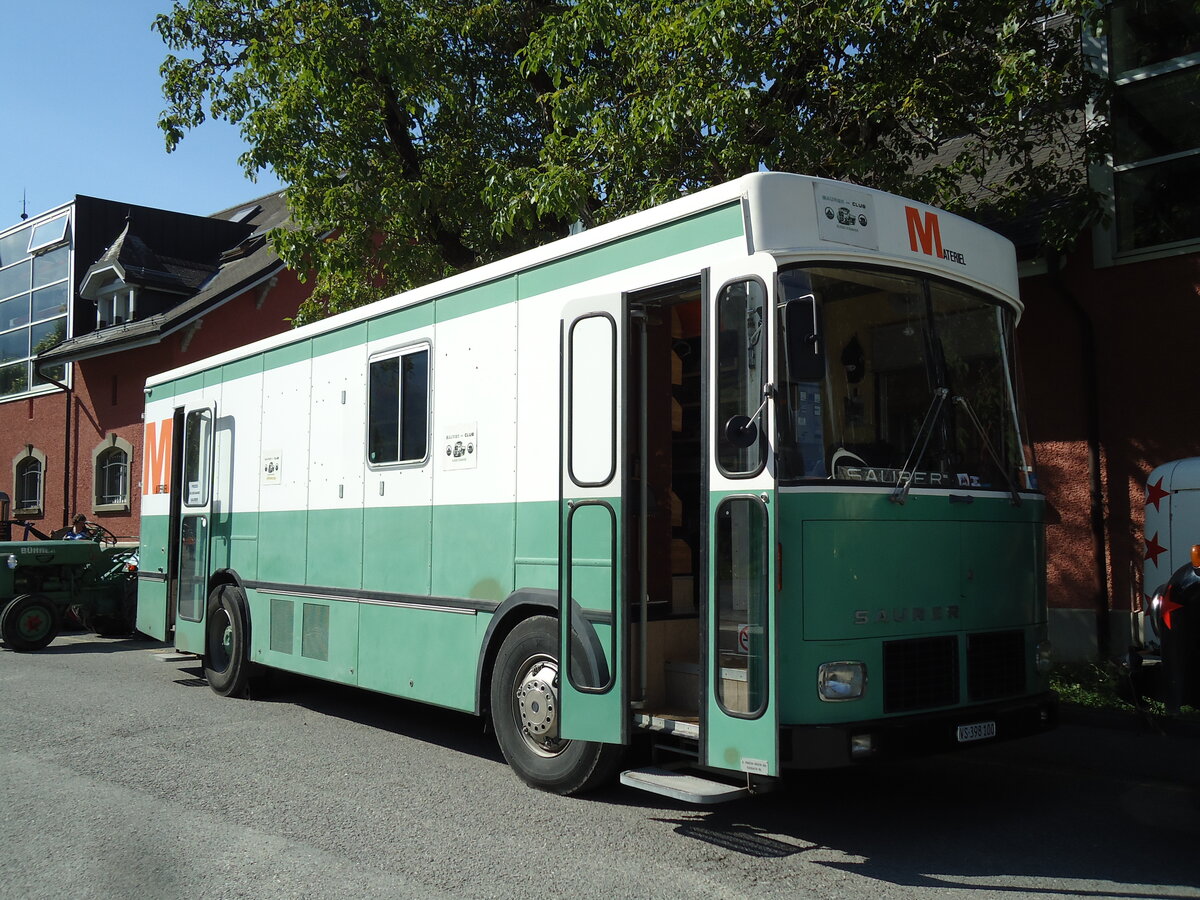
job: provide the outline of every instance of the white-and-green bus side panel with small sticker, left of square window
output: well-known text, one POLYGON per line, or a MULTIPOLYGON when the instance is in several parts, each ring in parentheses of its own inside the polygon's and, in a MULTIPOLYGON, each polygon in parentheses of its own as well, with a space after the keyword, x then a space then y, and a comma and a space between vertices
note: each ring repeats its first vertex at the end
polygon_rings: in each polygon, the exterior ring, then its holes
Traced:
MULTIPOLYGON (((308 383, 311 344, 302 341, 263 359, 262 446, 257 464, 258 571, 242 577, 304 581, 308 544, 308 383)), ((257 635, 254 637, 257 643, 257 635)))

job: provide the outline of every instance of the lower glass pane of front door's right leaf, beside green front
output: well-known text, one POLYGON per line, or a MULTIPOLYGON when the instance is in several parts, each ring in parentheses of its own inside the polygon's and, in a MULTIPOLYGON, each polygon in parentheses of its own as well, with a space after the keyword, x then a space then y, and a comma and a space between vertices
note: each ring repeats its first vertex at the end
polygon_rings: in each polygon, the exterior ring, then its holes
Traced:
POLYGON ((760 715, 767 702, 767 511, 755 497, 716 510, 716 696, 732 715, 760 715))

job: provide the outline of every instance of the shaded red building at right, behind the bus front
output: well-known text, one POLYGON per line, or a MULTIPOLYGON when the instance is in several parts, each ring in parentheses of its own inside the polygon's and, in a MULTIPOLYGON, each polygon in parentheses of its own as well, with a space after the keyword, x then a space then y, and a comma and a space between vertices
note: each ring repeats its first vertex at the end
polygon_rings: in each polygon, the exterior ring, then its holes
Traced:
POLYGON ((1200 455, 1200 11, 1121 0, 1109 17, 1085 50, 1112 85, 1111 154, 1080 175, 1108 221, 1067 258, 1027 265, 1018 332, 1048 499, 1051 638, 1076 659, 1139 638, 1144 592, 1170 575, 1142 584, 1146 475, 1200 455))

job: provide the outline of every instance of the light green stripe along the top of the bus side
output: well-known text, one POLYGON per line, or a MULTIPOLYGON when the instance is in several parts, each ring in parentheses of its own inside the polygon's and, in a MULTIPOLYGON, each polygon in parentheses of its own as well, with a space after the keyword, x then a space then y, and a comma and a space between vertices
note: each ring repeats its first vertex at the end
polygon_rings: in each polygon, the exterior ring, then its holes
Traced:
MULTIPOLYGON (((686 253, 710 244, 739 238, 745 233, 742 218, 742 203, 734 200, 724 206, 706 210, 689 218, 667 222, 647 232, 631 234, 611 244, 602 244, 590 250, 545 263, 534 269, 514 272, 486 284, 478 284, 444 296, 425 301, 415 307, 398 310, 367 319, 353 325, 346 325, 324 335, 316 335, 296 343, 266 350, 263 370, 292 365, 310 356, 356 346, 364 340, 390 337, 395 334, 427 325, 436 314, 437 322, 449 322, 472 313, 491 310, 516 300, 545 294, 582 281, 612 275, 623 269, 665 259, 677 253, 686 253), (434 313, 436 307, 436 313, 434 313), (366 332, 361 331, 368 325, 366 332), (365 335, 365 336, 364 336, 365 335), (311 344, 311 347, 310 347, 311 344)), ((232 365, 232 364, 230 364, 232 365)), ((154 397, 186 394, 188 390, 212 384, 206 376, 212 370, 180 378, 175 382, 160 384, 154 389, 154 397), (199 379, 193 382, 193 379, 199 379)), ((222 378, 223 374, 222 374, 222 378)), ((228 380, 224 378, 224 380, 228 380)))

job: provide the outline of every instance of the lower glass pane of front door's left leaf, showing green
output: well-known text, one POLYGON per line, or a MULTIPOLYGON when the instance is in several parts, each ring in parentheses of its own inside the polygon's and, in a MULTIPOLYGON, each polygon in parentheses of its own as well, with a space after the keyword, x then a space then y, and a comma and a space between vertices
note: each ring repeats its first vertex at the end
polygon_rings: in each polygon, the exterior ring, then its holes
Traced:
POLYGON ((607 503, 576 504, 566 518, 570 554, 571 652, 566 671, 578 690, 602 694, 612 686, 617 518, 607 503))

